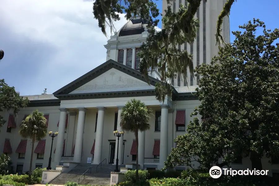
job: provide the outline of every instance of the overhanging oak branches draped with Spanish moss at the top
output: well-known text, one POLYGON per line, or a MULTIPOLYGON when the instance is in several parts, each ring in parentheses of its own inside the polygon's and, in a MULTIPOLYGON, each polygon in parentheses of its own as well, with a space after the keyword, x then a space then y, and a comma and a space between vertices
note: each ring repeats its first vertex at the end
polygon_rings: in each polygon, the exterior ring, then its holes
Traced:
MULTIPOLYGON (((159 23, 159 9, 157 0, 96 0, 93 3, 94 18, 98 20, 101 31, 107 35, 105 29, 108 26, 110 31, 114 31, 113 21, 120 20, 119 14, 126 13, 125 18, 130 19, 136 14, 148 25, 149 35, 144 44, 140 47, 139 57, 140 72, 148 80, 148 69, 158 69, 161 73, 161 82, 156 84, 157 100, 163 101, 165 96, 171 97, 172 86, 168 79, 181 74, 184 81, 187 80, 187 69, 191 75, 194 73, 193 56, 184 49, 178 49, 178 44, 185 42, 193 43, 197 37, 199 21, 194 18, 202 0, 187 0, 188 5, 180 4, 178 12, 172 11, 173 0, 166 0, 168 3, 166 13, 162 18, 164 28, 156 31, 155 27, 159 23)), ((203 0, 206 2, 206 0, 203 0)), ((223 11, 220 13, 217 22, 216 42, 224 42, 221 35, 221 24, 223 18, 228 16, 231 6, 235 0, 227 0, 223 11)), ((223 3, 223 2, 222 2, 223 3)))

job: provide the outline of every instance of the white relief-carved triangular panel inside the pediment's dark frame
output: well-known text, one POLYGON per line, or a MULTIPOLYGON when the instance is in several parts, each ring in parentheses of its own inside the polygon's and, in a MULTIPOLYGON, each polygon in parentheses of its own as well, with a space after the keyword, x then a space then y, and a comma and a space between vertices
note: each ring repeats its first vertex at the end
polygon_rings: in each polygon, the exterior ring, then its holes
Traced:
POLYGON ((154 86, 117 69, 109 69, 69 94, 153 90, 154 86))

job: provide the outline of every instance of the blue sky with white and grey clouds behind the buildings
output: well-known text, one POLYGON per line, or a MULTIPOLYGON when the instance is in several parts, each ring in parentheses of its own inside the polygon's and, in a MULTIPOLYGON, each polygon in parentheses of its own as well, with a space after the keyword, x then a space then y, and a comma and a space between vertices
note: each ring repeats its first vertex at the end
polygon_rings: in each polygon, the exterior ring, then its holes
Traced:
MULTIPOLYGON (((162 0, 157 4, 161 8, 162 0)), ((253 18, 268 29, 279 28, 278 7, 278 0, 238 0, 232 5, 230 29, 239 30, 238 25, 253 18)), ((93 19, 92 1, 1 1, 0 17, 0 49, 5 52, 0 78, 20 95, 41 94, 44 88, 51 94, 106 60, 108 38, 93 19)), ((117 29, 126 22, 121 17, 117 29)))

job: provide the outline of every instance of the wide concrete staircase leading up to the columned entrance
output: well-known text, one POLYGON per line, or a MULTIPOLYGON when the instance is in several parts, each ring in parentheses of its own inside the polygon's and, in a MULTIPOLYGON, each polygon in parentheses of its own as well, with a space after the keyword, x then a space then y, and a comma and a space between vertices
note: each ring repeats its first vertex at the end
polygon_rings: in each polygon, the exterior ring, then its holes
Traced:
MULTIPOLYGON (((125 165, 118 166, 125 167, 125 165)), ((79 164, 68 173, 61 173, 49 184, 64 185, 68 181, 74 181, 78 183, 79 177, 86 171, 85 176, 82 175, 79 179, 79 185, 110 185, 110 172, 114 172, 115 165, 103 164, 98 166, 98 172, 96 172, 97 165, 91 164, 79 164), (91 168, 91 173, 90 169, 91 168), (84 179, 83 179, 84 178, 84 179)))

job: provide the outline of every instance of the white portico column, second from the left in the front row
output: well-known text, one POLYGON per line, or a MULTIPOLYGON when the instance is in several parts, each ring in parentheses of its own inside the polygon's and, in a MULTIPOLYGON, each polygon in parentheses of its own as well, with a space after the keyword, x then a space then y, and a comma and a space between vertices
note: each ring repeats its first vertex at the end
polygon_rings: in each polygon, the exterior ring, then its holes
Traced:
MULTIPOLYGON (((80 163, 82 157, 82 143, 86 108, 78 108, 78 126, 73 162, 80 163)), ((60 125, 60 124, 59 124, 60 125)))

